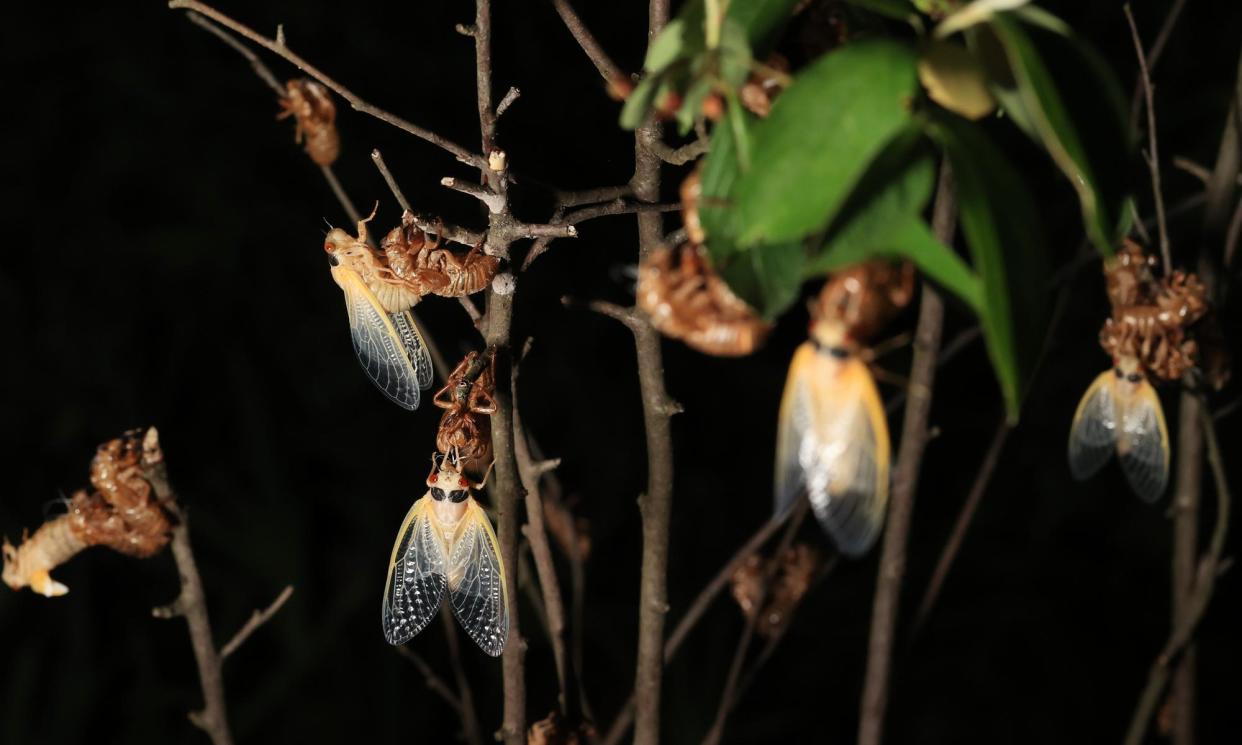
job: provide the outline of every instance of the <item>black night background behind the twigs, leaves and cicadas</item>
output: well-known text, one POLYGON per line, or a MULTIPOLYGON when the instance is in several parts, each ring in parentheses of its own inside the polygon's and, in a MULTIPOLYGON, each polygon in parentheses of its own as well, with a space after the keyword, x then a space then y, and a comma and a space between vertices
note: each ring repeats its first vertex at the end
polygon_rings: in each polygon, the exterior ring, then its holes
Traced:
MULTIPOLYGON (((510 163, 565 187, 623 181, 632 138, 615 125, 619 104, 550 4, 496 5, 497 96, 522 89, 502 124, 510 163)), ((578 5, 619 63, 636 70, 646 4, 578 5)), ((1129 93, 1135 65, 1120 4, 1051 5, 1099 46, 1129 93)), ((1149 42, 1166 7, 1135 4, 1149 42)), ((384 643, 379 623, 385 561, 422 490, 437 410, 402 412, 358 369, 319 250, 324 220, 348 221, 318 169, 293 145, 292 125, 273 122, 273 96, 246 63, 161 2, 24 10, 0 31, 10 231, 0 261, 0 533, 16 539, 57 512, 58 497, 86 483, 98 442, 158 425, 193 514, 216 637, 283 585, 297 587, 227 664, 237 740, 452 741, 453 713, 384 643)), ((452 30, 472 21, 473 4, 231 1, 224 10, 268 34, 284 24, 294 50, 368 101, 477 147, 473 47, 452 30)), ((1175 154, 1211 163, 1238 30, 1233 4, 1189 4, 1156 73, 1166 169, 1175 154)), ((399 209, 368 158, 373 147, 417 207, 481 225, 471 200, 437 185, 469 169, 345 107, 339 125, 337 171, 359 205, 380 200, 379 226, 399 209)), ((1068 263, 1082 235, 1068 184, 1010 128, 996 134, 1040 196, 1054 262, 1068 263)), ((667 176, 672 197, 679 171, 667 176)), ((1134 176, 1149 215, 1138 158, 1134 176)), ((1165 180, 1170 202, 1200 189, 1181 171, 1167 169, 1165 180)), ((538 200, 524 210, 546 217, 538 200)), ((1196 211, 1174 221, 1181 257, 1197 221, 1196 211)), ((615 217, 554 245, 522 277, 515 322, 535 338, 520 390, 528 426, 563 458, 565 494, 591 525, 585 679, 601 728, 632 684, 642 421, 628 333, 563 308, 560 297, 627 302, 622 269, 635 242, 633 219, 615 217)), ((1167 499, 1140 503, 1115 466, 1074 483, 1064 463, 1073 407, 1107 365, 1095 344, 1107 313, 1098 268, 1072 274, 1048 364, 943 598, 917 639, 900 637, 891 743, 1118 741, 1163 644, 1167 499)), ((417 310, 448 356, 481 344, 452 300, 417 310)), ((686 407, 674 418, 671 623, 769 513, 776 405, 805 320, 790 313, 743 360, 664 345, 667 386, 686 407)), ((969 323, 951 308, 946 338, 969 323)), ((912 324, 907 313, 891 332, 912 324)), ((882 364, 903 372, 908 350, 882 364)), ((1236 395, 1232 386, 1217 404, 1236 395)), ((1175 422, 1176 396, 1164 400, 1175 422)), ((976 341, 936 381, 939 437, 914 515, 908 611, 1000 411, 976 341)), ((1226 452, 1237 451, 1238 422, 1220 425, 1226 452)), ((1236 468, 1233 478, 1242 483, 1236 468)), ((827 550, 817 528, 801 539, 827 550)), ((872 555, 841 564, 815 589, 739 703, 729 743, 853 738, 874 575, 872 555)), ((0 741, 205 743, 185 718, 200 694, 184 625, 150 616, 176 592, 170 558, 96 549, 57 576, 72 590, 62 598, 0 589, 0 741)), ((554 707, 555 677, 545 636, 522 610, 533 720, 554 707)), ((1240 621, 1230 572, 1200 632, 1202 743, 1236 743, 1242 730, 1240 621)), ((741 626, 732 601, 717 602, 668 667, 668 743, 705 733, 741 626)), ((411 647, 446 670, 442 641, 436 623, 411 647)), ((501 718, 499 663, 463 651, 489 733, 501 718)))

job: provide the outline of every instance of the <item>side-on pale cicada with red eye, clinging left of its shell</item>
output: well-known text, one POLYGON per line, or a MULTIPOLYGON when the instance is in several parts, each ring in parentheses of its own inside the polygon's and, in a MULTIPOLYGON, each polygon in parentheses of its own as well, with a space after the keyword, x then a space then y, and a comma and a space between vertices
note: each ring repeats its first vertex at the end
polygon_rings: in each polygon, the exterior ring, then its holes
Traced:
POLYGON ((431 354, 410 313, 422 294, 394 274, 384 256, 366 243, 369 220, 358 222, 356 237, 332 228, 323 250, 332 262, 332 278, 345 293, 358 361, 385 396, 414 411, 432 377, 431 354))

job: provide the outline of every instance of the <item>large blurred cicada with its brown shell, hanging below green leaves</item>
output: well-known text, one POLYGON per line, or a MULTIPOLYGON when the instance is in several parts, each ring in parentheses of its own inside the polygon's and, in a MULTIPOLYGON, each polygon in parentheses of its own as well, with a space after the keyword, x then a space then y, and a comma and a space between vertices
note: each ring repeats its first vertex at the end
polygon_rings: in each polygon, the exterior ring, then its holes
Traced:
POLYGON ((889 440, 863 341, 909 303, 913 267, 883 261, 833 276, 794 353, 776 438, 776 514, 806 490, 842 554, 866 553, 888 505, 889 440))

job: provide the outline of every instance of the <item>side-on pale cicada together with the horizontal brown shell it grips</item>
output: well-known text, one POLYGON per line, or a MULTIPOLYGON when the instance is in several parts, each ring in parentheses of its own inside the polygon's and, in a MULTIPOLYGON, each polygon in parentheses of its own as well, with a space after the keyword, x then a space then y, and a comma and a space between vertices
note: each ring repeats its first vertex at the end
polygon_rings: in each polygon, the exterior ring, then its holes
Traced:
MULTIPOLYGON (((371 214, 374 217, 374 212, 371 214)), ((406 212, 380 248, 366 242, 366 222, 350 236, 335 227, 323 248, 332 278, 345 293, 349 333, 366 376, 402 409, 415 410, 431 387, 427 344, 410 313, 428 294, 465 297, 479 292, 496 276, 499 260, 482 246, 456 252, 424 232, 406 212)))

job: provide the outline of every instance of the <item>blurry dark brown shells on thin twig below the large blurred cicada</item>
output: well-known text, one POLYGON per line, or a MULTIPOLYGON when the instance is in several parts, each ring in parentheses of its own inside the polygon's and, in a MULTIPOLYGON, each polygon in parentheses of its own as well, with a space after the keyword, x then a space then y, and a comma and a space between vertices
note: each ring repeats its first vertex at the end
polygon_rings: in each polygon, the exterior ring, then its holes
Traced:
POLYGON ((741 561, 733 571, 732 592, 743 615, 753 617, 758 611, 760 597, 764 596, 764 581, 769 571, 774 570, 771 587, 766 594, 764 612, 755 626, 755 631, 764 637, 771 638, 789 623, 790 617, 799 603, 811 589, 811 582, 823 566, 820 553, 806 544, 797 544, 787 549, 779 559, 779 565, 773 567, 776 559, 765 559, 760 554, 751 554, 741 561))

